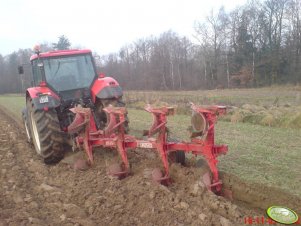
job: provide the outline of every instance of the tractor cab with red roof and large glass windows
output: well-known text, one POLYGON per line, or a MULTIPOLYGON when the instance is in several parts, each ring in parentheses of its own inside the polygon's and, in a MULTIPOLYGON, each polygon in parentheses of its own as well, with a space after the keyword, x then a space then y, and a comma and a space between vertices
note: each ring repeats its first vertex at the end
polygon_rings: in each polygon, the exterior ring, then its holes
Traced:
POLYGON ((62 100, 82 96, 97 78, 90 50, 37 53, 30 59, 34 86, 45 85, 62 100))

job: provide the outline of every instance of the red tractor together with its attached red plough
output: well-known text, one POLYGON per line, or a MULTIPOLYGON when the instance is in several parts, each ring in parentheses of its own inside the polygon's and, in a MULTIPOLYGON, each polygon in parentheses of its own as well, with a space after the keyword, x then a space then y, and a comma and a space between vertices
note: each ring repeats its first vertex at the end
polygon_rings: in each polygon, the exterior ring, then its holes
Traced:
POLYGON ((94 148, 107 147, 120 156, 108 173, 122 179, 131 171, 128 151, 145 149, 156 151, 161 158, 161 168, 153 170, 153 179, 168 185, 172 181, 170 162, 185 164, 185 153, 189 152, 205 158, 211 173, 203 175, 203 183, 208 190, 222 194, 217 157, 226 154, 228 147, 215 144, 214 125, 226 107, 191 103, 191 141, 178 142, 169 138, 167 127, 167 116, 175 109, 147 105, 145 110, 152 114, 153 124, 144 131, 145 139, 137 139, 127 133, 121 87, 113 78, 97 75, 90 50, 36 51, 30 61, 34 87, 26 91, 23 122, 28 142, 46 164, 60 161, 69 145, 84 150, 86 163, 93 165, 94 148))

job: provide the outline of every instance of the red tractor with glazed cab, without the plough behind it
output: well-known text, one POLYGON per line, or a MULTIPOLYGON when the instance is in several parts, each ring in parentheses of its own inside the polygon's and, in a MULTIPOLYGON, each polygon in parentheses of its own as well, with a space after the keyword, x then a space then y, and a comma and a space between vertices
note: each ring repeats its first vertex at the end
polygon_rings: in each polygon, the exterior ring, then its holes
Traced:
MULTIPOLYGON (((96 127, 103 129, 109 120, 103 109, 125 104, 118 82, 97 74, 91 50, 35 52, 30 58, 33 87, 26 90, 22 118, 28 142, 46 164, 51 164, 64 157, 64 146, 74 140, 67 134, 74 120, 71 108, 90 108, 96 127)), ((19 73, 23 73, 22 66, 19 73)), ((127 122, 125 126, 128 128, 127 122)))

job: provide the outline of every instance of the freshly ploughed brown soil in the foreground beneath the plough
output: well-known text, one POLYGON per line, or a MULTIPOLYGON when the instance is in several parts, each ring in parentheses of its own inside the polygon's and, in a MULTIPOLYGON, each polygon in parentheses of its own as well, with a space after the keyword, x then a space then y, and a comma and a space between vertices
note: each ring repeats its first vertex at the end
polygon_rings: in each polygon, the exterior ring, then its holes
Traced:
POLYGON ((150 179, 161 166, 156 154, 129 151, 132 175, 117 180, 107 167, 118 161, 114 150, 98 149, 86 171, 73 168, 83 153, 67 153, 56 165, 45 165, 26 143, 20 123, 0 111, 0 226, 4 225, 248 225, 264 217, 271 205, 301 213, 301 200, 273 188, 247 184, 222 173, 233 200, 216 196, 200 182, 206 165, 194 158, 171 165, 173 184, 150 179))

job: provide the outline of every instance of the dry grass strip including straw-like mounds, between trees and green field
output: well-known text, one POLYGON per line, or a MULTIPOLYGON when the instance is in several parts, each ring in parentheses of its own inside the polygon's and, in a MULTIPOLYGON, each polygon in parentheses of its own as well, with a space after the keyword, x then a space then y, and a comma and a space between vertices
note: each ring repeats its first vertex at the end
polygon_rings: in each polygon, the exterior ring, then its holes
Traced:
POLYGON ((260 89, 209 91, 128 91, 129 107, 142 110, 146 103, 173 105, 178 114, 190 114, 189 102, 226 105, 224 121, 301 129, 301 87, 281 86, 260 89))

